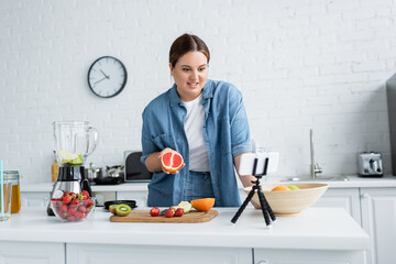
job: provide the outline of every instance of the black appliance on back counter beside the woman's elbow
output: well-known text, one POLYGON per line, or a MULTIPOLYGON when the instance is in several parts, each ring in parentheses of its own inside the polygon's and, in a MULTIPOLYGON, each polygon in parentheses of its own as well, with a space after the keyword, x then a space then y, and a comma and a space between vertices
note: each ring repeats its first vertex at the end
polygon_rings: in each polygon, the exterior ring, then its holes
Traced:
POLYGON ((153 174, 141 163, 142 152, 124 152, 125 182, 150 182, 153 174))

